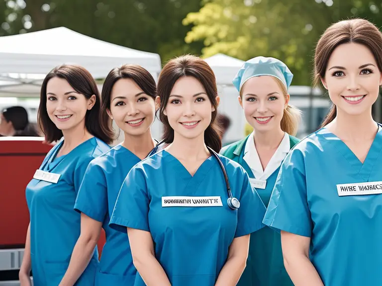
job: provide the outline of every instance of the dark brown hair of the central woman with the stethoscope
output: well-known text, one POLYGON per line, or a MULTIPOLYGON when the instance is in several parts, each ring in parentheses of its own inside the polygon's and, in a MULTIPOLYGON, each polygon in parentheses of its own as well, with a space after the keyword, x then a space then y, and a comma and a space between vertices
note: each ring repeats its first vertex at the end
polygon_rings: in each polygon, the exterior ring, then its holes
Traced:
POLYGON ((216 78, 206 62, 191 55, 170 60, 159 74, 157 92, 161 98, 161 106, 158 111, 159 119, 164 124, 163 141, 166 143, 172 143, 174 141, 174 130, 171 128, 164 111, 175 82, 183 76, 196 78, 201 85, 203 85, 212 106, 215 108, 215 111, 212 112, 211 123, 204 131, 204 143, 214 151, 219 152, 221 149, 221 132, 216 123, 216 78))

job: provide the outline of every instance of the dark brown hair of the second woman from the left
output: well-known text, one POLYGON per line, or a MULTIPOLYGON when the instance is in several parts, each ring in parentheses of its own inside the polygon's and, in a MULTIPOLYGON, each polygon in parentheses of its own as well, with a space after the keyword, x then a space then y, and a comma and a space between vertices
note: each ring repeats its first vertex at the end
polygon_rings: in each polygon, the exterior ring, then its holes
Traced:
POLYGON ((110 98, 113 86, 115 82, 121 78, 131 78, 145 94, 151 96, 154 100, 157 94, 157 86, 154 77, 141 66, 123 65, 120 68, 112 69, 103 82, 101 92, 101 114, 99 119, 101 126, 104 128, 103 132, 111 138, 114 138, 115 134, 111 127, 112 121, 107 115, 106 110, 110 110, 110 98))

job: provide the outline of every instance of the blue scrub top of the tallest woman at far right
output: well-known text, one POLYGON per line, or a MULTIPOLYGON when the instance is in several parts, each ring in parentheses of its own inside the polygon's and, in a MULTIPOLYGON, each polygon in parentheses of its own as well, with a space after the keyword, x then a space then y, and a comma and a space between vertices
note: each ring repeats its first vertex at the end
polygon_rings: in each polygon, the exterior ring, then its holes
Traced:
POLYGON ((325 286, 382 285, 382 195, 365 194, 380 192, 381 170, 381 126, 364 163, 324 128, 282 164, 264 223, 310 237, 310 260, 325 286), (343 191, 358 183, 362 195, 343 191))

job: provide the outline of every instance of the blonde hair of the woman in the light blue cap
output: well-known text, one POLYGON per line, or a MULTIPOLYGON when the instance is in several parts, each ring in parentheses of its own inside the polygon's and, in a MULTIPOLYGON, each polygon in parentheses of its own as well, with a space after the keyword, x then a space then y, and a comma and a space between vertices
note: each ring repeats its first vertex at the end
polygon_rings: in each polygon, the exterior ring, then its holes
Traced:
MULTIPOLYGON (((286 98, 286 94, 288 94, 288 90, 286 89, 285 84, 279 78, 275 76, 272 76, 272 77, 276 80, 277 84, 279 85, 279 87, 284 93, 284 97, 286 98)), ((241 98, 243 98, 243 87, 245 83, 240 88, 239 94, 241 98)), ((286 106, 286 109, 284 109, 283 118, 280 122, 281 130, 283 130, 284 132, 286 132, 287 134, 291 136, 296 136, 300 120, 301 120, 301 110, 291 105, 286 106)))

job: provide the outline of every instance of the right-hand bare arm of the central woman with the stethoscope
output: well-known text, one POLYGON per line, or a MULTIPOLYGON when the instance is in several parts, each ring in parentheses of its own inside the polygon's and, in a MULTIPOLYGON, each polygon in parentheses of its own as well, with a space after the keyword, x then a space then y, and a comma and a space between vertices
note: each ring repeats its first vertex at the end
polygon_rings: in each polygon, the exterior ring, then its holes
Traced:
POLYGON ((235 286, 247 264, 250 234, 233 239, 215 286, 235 286))

